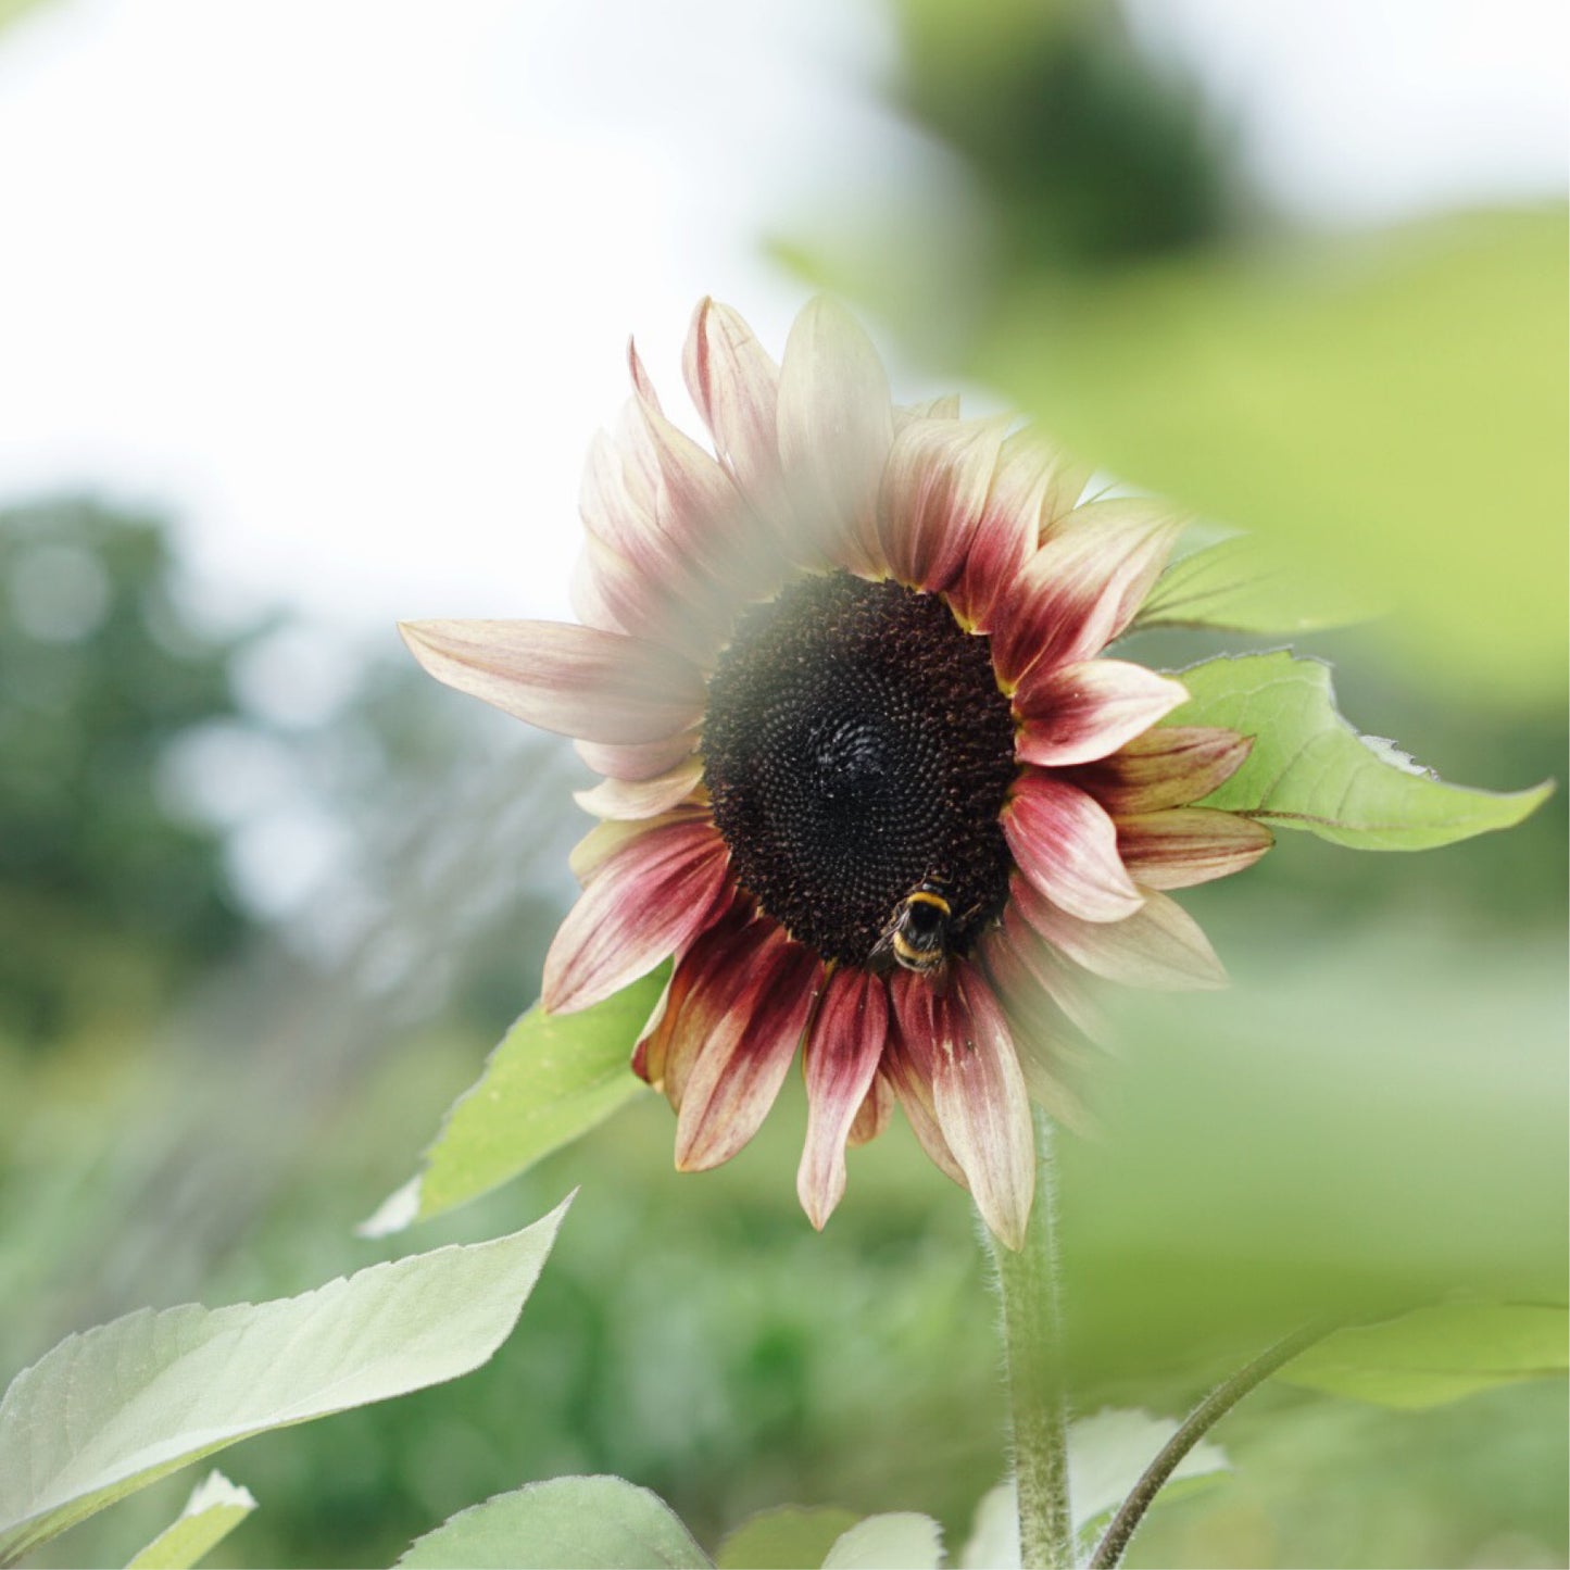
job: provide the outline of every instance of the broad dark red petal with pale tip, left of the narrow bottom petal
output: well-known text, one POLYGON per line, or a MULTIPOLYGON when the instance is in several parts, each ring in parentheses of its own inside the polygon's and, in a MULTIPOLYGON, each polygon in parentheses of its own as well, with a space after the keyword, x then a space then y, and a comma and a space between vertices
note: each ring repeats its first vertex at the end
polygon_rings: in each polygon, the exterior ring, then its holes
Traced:
POLYGON ((768 940, 746 961, 741 991, 686 1079, 677 1116, 678 1171, 719 1167, 758 1132, 823 988, 823 961, 772 922, 768 926, 768 940))

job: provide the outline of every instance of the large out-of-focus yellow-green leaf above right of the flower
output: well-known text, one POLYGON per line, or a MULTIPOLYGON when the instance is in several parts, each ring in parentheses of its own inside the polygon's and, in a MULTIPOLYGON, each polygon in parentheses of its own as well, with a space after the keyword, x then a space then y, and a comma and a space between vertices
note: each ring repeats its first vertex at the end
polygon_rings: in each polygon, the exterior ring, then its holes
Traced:
POLYGON ((1565 251, 1554 209, 1022 272, 967 369, 1119 477, 1355 565, 1451 680, 1557 692, 1565 251))

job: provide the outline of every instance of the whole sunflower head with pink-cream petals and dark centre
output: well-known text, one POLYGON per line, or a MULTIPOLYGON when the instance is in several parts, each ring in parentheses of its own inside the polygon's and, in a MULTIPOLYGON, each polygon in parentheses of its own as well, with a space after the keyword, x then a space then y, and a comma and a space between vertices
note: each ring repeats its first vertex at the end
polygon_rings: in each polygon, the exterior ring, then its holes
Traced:
POLYGON ((1184 520, 1080 502, 1085 469, 956 399, 895 407, 827 300, 779 364, 699 305, 683 366, 713 455, 630 361, 584 477, 582 625, 403 626, 438 680, 576 738, 603 776, 543 1003, 674 958, 633 1066, 677 1112, 677 1167, 735 1156, 801 1047, 815 1226, 898 1101, 1019 1247, 1030 1097, 1074 1115, 1085 975, 1221 984, 1162 890, 1270 846, 1192 805, 1248 739, 1159 725, 1181 681, 1101 658, 1184 520))

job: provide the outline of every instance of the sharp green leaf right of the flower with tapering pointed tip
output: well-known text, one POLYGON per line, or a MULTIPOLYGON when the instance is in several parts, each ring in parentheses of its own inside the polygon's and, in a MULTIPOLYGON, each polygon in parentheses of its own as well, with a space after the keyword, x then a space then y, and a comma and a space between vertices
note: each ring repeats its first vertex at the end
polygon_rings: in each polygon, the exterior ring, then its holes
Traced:
POLYGON ((1188 702, 1171 725, 1223 725, 1254 738, 1243 766, 1201 805, 1360 851, 1422 851, 1509 829, 1551 783, 1495 793, 1446 785, 1338 713, 1330 667, 1289 653, 1210 659, 1179 674, 1188 702))

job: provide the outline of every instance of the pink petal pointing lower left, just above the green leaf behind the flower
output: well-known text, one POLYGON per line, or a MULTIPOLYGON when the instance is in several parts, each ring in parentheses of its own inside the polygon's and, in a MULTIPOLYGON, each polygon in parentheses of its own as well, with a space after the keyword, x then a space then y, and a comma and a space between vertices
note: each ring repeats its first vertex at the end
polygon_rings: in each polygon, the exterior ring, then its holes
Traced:
POLYGON ((593 874, 545 956, 543 1002, 571 1014, 619 992, 688 944, 721 898, 730 853, 706 821, 630 840, 593 874))

